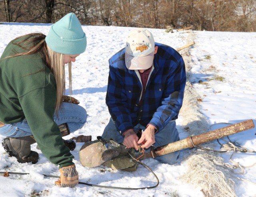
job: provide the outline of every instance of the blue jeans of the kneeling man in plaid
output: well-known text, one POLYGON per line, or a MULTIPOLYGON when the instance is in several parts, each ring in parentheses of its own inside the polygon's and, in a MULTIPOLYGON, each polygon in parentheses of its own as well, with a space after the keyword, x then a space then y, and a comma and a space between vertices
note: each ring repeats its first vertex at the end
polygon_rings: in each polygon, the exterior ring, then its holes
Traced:
MULTIPOLYGON (((135 132, 139 129, 145 130, 146 128, 142 126, 141 124, 137 124, 134 126, 135 132)), ((102 134, 102 138, 110 139, 112 138, 117 143, 123 143, 124 136, 122 136, 118 130, 116 130, 116 126, 114 124, 114 121, 112 118, 110 118, 110 121, 108 125, 105 127, 104 132, 102 134)), ((169 122, 162 130, 158 131, 155 134, 155 143, 154 146, 157 148, 159 146, 164 146, 166 144, 170 144, 172 142, 176 142, 180 140, 178 130, 176 129, 176 122, 171 121, 169 122)), ((150 152, 150 148, 145 148, 145 153, 150 152)), ((161 163, 165 164, 174 164, 177 162, 179 158, 180 151, 165 154, 162 156, 158 156, 155 159, 158 160, 161 163)), ((138 151, 135 151, 135 155, 138 156, 140 153, 138 151)))

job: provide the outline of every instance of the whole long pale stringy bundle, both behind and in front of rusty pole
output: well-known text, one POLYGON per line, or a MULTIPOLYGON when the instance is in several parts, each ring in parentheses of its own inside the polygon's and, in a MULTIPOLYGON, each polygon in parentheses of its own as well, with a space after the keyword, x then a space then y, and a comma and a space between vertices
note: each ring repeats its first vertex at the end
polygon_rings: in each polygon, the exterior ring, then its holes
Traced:
MULTIPOLYGON (((202 100, 202 96, 198 95, 189 81, 192 61, 188 50, 184 49, 184 52, 188 81, 180 110, 181 124, 188 135, 198 135, 207 132, 209 124, 206 117, 200 112, 199 101, 202 100)), ((207 143, 208 147, 212 145, 212 142, 207 143)), ((191 183, 195 187, 201 187, 206 197, 236 197, 234 181, 230 178, 230 169, 224 166, 223 158, 201 150, 188 151, 185 157, 184 162, 188 165, 188 172, 180 177, 182 181, 191 183)))

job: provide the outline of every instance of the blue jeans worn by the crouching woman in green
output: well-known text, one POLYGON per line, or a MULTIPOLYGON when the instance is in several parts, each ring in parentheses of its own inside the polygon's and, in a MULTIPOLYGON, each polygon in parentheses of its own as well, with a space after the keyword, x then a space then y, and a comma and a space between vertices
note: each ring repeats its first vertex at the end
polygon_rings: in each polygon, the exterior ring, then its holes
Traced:
MULTIPOLYGON (((82 106, 68 102, 61 103, 58 116, 54 114, 54 122, 56 122, 57 125, 67 123, 70 133, 82 128, 86 122, 86 118, 87 113, 82 106)), ((25 118, 22 122, 5 124, 5 126, 0 127, 0 135, 11 138, 19 138, 31 136, 32 132, 25 118)))

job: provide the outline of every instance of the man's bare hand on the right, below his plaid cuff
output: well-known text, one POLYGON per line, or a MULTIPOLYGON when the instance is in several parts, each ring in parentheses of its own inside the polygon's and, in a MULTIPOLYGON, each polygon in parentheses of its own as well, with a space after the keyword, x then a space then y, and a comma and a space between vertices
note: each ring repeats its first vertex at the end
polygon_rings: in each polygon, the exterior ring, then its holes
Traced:
POLYGON ((144 130, 141 135, 140 140, 137 142, 141 144, 142 148, 149 148, 155 143, 155 127, 153 125, 148 125, 148 128, 144 130))

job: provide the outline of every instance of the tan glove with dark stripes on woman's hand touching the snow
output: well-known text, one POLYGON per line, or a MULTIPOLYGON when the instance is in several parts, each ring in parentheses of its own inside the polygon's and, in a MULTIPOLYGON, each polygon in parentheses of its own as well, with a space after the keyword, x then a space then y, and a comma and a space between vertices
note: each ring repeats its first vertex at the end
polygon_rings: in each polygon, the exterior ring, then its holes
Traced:
POLYGON ((75 165, 60 168, 60 179, 55 184, 60 187, 75 187, 79 182, 75 165))

